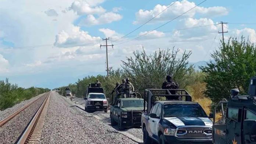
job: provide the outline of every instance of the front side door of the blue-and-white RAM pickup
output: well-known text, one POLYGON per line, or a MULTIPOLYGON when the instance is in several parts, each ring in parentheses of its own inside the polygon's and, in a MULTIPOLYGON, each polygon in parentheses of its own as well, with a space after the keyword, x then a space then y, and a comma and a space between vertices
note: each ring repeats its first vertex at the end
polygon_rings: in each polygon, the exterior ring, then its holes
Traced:
MULTIPOLYGON (((157 107, 159 106, 158 103, 156 103, 156 105, 154 105, 150 111, 150 114, 156 114, 156 110, 157 110, 157 107)), ((150 137, 153 137, 156 139, 156 136, 154 135, 154 129, 155 129, 155 126, 156 126, 156 120, 157 118, 152 118, 149 116, 149 120, 147 122, 148 126, 147 128, 148 129, 148 133, 149 133, 149 136, 150 137)))

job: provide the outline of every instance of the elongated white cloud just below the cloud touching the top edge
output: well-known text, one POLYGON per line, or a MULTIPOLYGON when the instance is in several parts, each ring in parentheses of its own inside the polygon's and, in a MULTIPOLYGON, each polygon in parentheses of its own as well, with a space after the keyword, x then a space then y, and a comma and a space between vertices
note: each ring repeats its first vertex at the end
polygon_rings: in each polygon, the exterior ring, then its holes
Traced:
POLYGON ((114 21, 118 21, 122 19, 120 14, 114 12, 107 12, 105 14, 100 15, 98 18, 95 18, 93 15, 88 15, 85 19, 81 20, 79 25, 81 26, 90 26, 90 25, 100 25, 111 23, 114 21))

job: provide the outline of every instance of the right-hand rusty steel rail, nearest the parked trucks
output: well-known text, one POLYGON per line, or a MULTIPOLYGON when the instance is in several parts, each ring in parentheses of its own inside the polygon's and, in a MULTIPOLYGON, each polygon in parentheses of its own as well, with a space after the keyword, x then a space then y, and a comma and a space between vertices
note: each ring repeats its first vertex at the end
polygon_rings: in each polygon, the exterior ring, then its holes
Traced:
POLYGON ((51 92, 46 96, 45 100, 43 101, 42 105, 39 107, 38 111, 32 118, 31 122, 29 125, 26 127, 26 130, 18 140, 17 144, 27 144, 29 142, 29 139, 31 138, 33 131, 35 130, 36 124, 38 123, 38 120, 42 114, 42 111, 46 107, 46 102, 49 104, 49 97, 50 97, 51 92))

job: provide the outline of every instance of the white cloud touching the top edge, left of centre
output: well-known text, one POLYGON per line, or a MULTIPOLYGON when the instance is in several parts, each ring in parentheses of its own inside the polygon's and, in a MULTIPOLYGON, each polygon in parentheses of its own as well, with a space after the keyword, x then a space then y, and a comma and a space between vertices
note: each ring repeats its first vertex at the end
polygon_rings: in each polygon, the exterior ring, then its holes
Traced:
POLYGON ((101 6, 92 7, 88 2, 86 1, 74 1, 69 8, 69 10, 73 10, 74 12, 77 12, 78 15, 83 14, 102 14, 106 12, 106 10, 101 6))

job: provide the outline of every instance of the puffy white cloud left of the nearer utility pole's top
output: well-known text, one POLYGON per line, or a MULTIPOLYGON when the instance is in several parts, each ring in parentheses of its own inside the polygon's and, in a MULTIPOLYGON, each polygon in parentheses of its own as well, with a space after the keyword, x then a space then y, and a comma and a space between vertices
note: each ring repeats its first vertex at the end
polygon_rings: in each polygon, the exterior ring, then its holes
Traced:
POLYGON ((92 37, 87 31, 83 31, 78 26, 73 26, 71 33, 64 30, 56 35, 54 45, 57 47, 69 48, 75 46, 93 45, 99 42, 100 37, 92 37))

